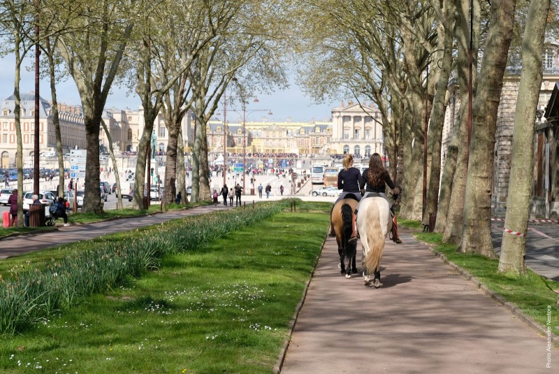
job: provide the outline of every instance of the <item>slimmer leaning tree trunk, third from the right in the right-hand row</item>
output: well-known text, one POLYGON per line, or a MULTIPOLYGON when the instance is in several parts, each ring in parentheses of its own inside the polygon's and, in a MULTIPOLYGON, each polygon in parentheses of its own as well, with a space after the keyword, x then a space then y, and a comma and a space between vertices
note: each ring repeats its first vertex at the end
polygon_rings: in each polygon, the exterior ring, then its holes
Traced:
MULTIPOLYGON (((472 20, 474 40, 472 41, 472 85, 476 87, 477 52, 479 47, 479 3, 472 1, 474 5, 474 20, 472 20)), ((452 181, 452 190, 449 201, 447 223, 444 227, 442 240, 447 243, 458 244, 462 233, 462 222, 464 217, 464 194, 466 188, 467 173, 467 103, 468 103, 468 45, 470 43, 470 3, 457 0, 458 22, 456 28, 456 41, 458 42, 458 89, 460 92, 460 111, 458 114, 458 128, 454 130, 454 136, 458 136, 458 158, 452 181)))

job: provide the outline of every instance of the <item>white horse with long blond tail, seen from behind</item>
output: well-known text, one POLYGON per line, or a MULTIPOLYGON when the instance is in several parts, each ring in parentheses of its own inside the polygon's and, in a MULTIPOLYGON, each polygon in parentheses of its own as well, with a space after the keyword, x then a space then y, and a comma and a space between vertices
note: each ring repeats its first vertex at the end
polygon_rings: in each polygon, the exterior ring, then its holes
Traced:
POLYGON ((374 273, 375 288, 379 288, 381 285, 380 260, 384 250, 384 239, 392 229, 389 202, 384 197, 379 196, 362 199, 357 213, 356 225, 363 246, 365 286, 370 285, 369 275, 374 273))

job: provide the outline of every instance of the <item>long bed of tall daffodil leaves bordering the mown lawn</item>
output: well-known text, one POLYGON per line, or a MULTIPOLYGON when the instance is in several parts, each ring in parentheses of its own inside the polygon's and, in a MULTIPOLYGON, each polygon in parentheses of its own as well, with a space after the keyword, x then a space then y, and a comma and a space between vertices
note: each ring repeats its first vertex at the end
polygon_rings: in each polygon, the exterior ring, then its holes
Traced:
POLYGON ((224 210, 157 225, 129 240, 87 242, 43 267, 14 266, 0 282, 0 333, 22 331, 36 319, 103 292, 126 277, 159 266, 165 254, 191 250, 286 207, 289 201, 266 202, 254 210, 224 210), (31 267, 31 268, 30 268, 31 267))

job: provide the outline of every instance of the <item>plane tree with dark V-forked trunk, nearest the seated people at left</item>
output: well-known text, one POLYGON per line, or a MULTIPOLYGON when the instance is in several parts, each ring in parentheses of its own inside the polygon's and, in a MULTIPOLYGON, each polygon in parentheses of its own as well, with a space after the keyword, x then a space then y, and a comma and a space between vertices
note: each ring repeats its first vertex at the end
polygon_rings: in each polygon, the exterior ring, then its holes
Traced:
POLYGON ((78 87, 83 108, 87 158, 82 210, 102 213, 99 199, 99 131, 101 117, 119 64, 129 41, 138 9, 144 1, 106 0, 91 6, 74 2, 81 17, 72 33, 59 36, 57 48, 78 87))

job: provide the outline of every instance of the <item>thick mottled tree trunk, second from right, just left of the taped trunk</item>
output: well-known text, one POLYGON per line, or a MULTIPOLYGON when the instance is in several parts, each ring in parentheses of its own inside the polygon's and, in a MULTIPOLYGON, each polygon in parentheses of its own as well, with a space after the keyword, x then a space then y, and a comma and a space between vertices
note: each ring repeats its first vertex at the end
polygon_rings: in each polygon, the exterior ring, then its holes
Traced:
POLYGON ((479 80, 484 82, 474 101, 472 140, 466 182, 464 221, 460 252, 496 258, 491 242, 491 185, 497 113, 502 77, 514 24, 516 0, 491 3, 489 31, 479 80))

